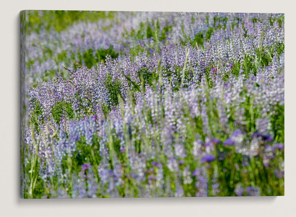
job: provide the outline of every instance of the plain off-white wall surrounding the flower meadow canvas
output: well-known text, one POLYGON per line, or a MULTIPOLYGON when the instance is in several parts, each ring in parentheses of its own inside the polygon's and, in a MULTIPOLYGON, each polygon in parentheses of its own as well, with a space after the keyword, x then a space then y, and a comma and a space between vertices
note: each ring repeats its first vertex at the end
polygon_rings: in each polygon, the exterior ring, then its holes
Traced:
POLYGON ((295 3, 292 1, 2 1, 0 25, 0 216, 296 216, 295 3), (21 200, 20 14, 24 9, 285 13, 285 196, 21 200))

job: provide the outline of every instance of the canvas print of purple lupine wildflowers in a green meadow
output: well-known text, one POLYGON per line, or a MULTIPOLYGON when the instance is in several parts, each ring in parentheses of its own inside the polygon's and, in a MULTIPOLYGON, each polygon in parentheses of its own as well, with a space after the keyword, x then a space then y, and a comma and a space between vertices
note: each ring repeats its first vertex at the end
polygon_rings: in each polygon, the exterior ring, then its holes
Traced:
POLYGON ((21 197, 284 195, 284 24, 21 11, 21 197))

